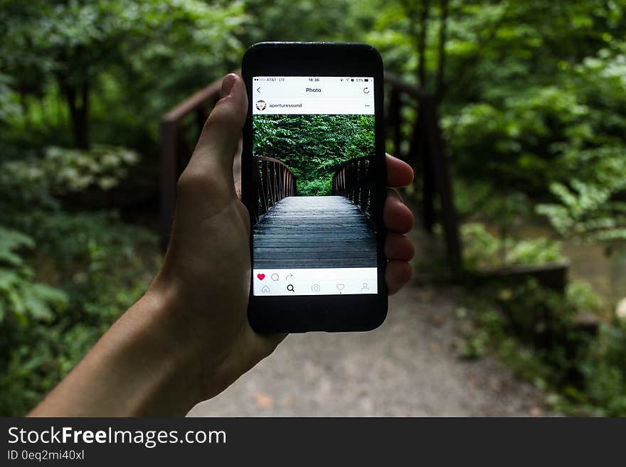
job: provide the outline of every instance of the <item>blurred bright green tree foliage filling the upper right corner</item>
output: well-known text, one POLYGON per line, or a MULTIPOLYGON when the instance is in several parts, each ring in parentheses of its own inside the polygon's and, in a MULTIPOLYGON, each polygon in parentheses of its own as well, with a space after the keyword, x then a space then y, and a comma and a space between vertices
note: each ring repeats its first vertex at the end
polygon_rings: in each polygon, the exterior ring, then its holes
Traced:
POLYGON ((452 167, 487 183, 485 199, 549 196, 552 181, 597 179, 616 166, 626 143, 626 1, 396 0, 377 8, 367 41, 386 68, 441 98, 452 167))

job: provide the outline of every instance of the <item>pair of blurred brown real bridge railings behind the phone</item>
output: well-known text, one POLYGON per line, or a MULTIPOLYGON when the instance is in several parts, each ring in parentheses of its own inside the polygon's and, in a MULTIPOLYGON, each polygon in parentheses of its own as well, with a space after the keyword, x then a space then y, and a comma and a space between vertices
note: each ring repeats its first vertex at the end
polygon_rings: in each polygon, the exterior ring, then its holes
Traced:
MULTIPOLYGON (((415 168, 418 218, 432 231, 440 220, 450 267, 461 268, 461 245, 450 171, 437 116, 437 99, 391 73, 385 73, 387 134, 393 154, 415 168), (416 118, 415 118, 416 116, 416 118), (435 211, 435 195, 440 198, 435 211)), ((191 156, 204 121, 219 98, 221 80, 196 92, 161 120, 161 243, 167 245, 174 217, 176 181, 191 156)), ((268 192, 269 193, 269 192, 268 192)))

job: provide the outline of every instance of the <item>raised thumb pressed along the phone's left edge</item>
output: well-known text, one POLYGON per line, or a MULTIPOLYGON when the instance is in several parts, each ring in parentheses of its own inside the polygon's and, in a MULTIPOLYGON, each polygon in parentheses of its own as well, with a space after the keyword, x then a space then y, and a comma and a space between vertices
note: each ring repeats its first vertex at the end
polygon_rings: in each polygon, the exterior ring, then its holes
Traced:
POLYGON ((226 75, 220 95, 181 178, 199 179, 212 191, 224 189, 234 193, 233 159, 248 113, 248 96, 241 77, 235 73, 226 75))

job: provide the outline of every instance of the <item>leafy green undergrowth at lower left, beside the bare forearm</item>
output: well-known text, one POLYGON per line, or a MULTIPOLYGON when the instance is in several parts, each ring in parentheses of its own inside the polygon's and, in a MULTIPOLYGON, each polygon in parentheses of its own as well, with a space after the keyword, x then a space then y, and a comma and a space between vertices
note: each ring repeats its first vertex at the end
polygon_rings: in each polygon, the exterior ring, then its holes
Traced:
POLYGON ((31 236, 0 227, 0 262, 11 266, 0 267, 3 416, 28 412, 144 293, 157 269, 154 235, 110 213, 40 211, 14 220, 31 236))

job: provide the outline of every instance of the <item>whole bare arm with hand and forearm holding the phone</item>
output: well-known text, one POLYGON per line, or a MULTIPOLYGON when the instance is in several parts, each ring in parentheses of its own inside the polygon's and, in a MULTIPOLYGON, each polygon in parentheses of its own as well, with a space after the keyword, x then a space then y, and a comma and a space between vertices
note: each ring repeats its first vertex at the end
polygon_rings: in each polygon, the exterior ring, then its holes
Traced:
MULTIPOLYGON (((235 192, 233 161, 248 99, 238 75, 224 78, 177 188, 171 241, 146 294, 33 411, 38 417, 184 415, 223 391, 285 336, 248 324, 250 219, 235 192)), ((390 293, 410 278, 413 215, 393 187, 413 178, 387 156, 384 222, 390 293)))

